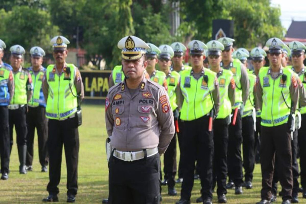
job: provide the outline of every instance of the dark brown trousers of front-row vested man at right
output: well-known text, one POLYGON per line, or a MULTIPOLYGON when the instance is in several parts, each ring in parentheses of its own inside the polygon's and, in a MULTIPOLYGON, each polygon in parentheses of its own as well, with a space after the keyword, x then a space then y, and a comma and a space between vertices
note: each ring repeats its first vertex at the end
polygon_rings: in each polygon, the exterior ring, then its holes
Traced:
POLYGON ((274 173, 275 152, 278 159, 278 178, 282 185, 283 200, 292 198, 292 155, 289 125, 261 126, 260 163, 262 175, 261 198, 270 200, 274 173))

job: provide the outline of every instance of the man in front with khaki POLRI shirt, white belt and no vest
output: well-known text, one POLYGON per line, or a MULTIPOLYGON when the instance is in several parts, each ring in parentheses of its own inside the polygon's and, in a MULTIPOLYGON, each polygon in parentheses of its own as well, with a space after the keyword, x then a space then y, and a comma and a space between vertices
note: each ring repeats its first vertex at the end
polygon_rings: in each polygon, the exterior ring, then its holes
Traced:
POLYGON ((159 203, 159 155, 175 132, 166 90, 144 77, 147 43, 118 42, 125 80, 106 98, 106 129, 113 148, 108 163, 108 203, 159 203))

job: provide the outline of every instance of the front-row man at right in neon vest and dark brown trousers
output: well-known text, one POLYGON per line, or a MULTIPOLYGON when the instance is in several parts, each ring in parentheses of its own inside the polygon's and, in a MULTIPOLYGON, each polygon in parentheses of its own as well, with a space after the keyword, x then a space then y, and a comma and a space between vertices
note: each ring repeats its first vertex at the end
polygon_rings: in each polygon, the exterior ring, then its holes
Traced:
POLYGON ((271 183, 274 171, 274 154, 278 157, 279 180, 282 185, 282 204, 291 203, 292 198, 292 155, 291 134, 292 113, 299 97, 298 84, 294 72, 281 65, 284 43, 278 38, 267 41, 270 67, 259 71, 256 82, 256 98, 261 108, 260 162, 262 172, 261 201, 270 203, 271 183))

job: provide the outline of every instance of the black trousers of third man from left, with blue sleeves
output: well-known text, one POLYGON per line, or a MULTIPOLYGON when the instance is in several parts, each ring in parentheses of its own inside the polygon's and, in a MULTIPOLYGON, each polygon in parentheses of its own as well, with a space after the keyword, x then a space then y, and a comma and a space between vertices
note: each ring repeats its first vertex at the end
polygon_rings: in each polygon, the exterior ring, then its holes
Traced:
POLYGON ((27 113, 27 156, 25 160, 25 165, 27 166, 32 166, 33 162, 35 128, 37 130, 38 138, 39 163, 42 166, 46 166, 49 163, 47 151, 48 120, 45 115, 45 107, 29 107, 29 111, 27 113))

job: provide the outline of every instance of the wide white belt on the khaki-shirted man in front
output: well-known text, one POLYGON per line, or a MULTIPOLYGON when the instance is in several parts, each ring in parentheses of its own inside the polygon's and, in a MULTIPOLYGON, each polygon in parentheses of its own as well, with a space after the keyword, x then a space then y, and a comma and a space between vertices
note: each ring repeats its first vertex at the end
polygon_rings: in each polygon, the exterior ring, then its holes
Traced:
MULTIPOLYGON (((158 148, 154 147, 151 149, 146 149, 147 157, 151 157, 158 153, 158 148)), ((121 152, 118 150, 114 150, 114 157, 121 159, 123 161, 136 161, 144 158, 144 150, 137 152, 121 152)))

